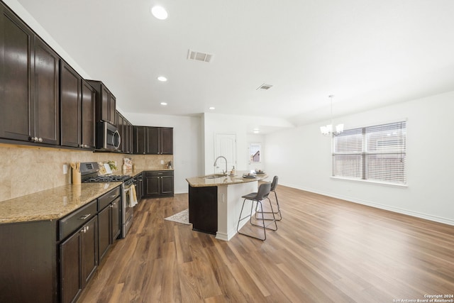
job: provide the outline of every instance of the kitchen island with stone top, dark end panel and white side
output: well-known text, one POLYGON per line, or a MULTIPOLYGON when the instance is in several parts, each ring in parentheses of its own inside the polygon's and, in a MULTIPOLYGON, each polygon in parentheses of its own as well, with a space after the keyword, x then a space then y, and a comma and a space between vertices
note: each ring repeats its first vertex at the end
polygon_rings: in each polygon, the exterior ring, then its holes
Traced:
MULTIPOLYGON (((207 175, 187 178, 189 184, 189 222, 194 231, 212 233, 216 238, 229 241, 236 235, 236 226, 240 216, 245 194, 257 192, 258 181, 266 174, 253 178, 237 175, 207 175)), ((246 221, 243 221, 245 224, 246 221)))

